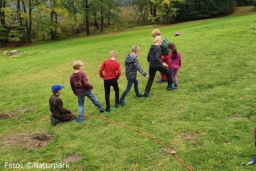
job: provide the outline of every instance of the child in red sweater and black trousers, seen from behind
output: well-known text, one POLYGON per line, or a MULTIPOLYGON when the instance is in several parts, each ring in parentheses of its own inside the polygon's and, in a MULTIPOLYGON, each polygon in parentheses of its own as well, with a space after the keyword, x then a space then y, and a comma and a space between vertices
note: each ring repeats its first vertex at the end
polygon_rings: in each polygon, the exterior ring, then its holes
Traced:
POLYGON ((109 59, 105 60, 100 67, 99 73, 100 78, 104 80, 104 88, 105 88, 105 100, 107 108, 105 111, 110 112, 110 87, 112 86, 115 90, 115 107, 118 107, 119 102, 119 88, 117 79, 119 79, 121 75, 120 63, 116 61, 118 53, 113 50, 109 54, 109 59), (103 73, 104 71, 104 73, 103 73))

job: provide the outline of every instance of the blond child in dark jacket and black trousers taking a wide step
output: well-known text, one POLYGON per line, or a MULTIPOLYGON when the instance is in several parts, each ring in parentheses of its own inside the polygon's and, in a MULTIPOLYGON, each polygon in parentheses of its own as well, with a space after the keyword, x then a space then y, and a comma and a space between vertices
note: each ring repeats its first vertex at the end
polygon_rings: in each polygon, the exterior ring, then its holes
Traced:
POLYGON ((153 45, 151 45, 149 49, 149 53, 147 54, 147 61, 149 62, 149 80, 147 81, 147 86, 145 88, 144 96, 147 97, 149 95, 151 86, 153 84, 153 79, 155 78, 156 71, 160 71, 166 75, 168 86, 167 90, 176 90, 175 86, 172 85, 173 80, 170 75, 170 71, 167 69, 168 64, 162 62, 161 58, 161 48, 162 37, 157 36, 153 40, 153 45))

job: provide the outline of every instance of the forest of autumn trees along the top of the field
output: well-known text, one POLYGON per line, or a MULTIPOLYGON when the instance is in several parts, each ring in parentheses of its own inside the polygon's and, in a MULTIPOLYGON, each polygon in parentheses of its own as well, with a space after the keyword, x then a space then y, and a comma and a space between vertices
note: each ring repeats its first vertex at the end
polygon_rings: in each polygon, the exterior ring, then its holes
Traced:
POLYGON ((256 0, 0 0, 0 46, 223 16, 256 0))

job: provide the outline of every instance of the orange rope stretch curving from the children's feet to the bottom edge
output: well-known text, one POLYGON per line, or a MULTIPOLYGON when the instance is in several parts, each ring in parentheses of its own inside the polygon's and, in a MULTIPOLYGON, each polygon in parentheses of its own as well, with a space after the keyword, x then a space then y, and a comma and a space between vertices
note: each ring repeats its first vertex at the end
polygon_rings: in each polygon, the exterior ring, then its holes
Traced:
MULTIPOLYGON (((86 116, 91 117, 91 118, 101 118, 101 117, 102 117, 102 116, 90 116, 90 115, 87 115, 87 114, 86 114, 86 116)), ((187 168, 187 170, 192 171, 191 168, 189 168, 186 164, 184 164, 184 162, 182 161, 182 159, 180 159, 180 158, 178 157, 178 155, 176 154, 176 151, 175 151, 175 150, 169 149, 168 147, 166 147, 166 145, 164 145, 163 142, 160 142, 160 141, 157 140, 155 137, 149 136, 148 134, 146 134, 145 132, 142 132, 141 130, 137 130, 137 129, 135 129, 135 128, 130 128, 129 126, 122 125, 121 123, 115 123, 115 122, 113 122, 113 121, 110 121, 106 116, 103 117, 103 120, 108 121, 109 123, 115 124, 115 125, 117 125, 117 126, 122 126, 122 127, 124 127, 124 128, 128 128, 128 129, 130 129, 130 130, 134 130, 134 131, 136 131, 136 132, 139 132, 139 133, 143 134, 144 136, 147 136, 148 138, 153 139, 153 140, 156 141, 158 144, 162 145, 162 146, 164 147, 164 149, 166 149, 166 150, 169 151, 172 155, 174 155, 174 156, 181 162, 181 164, 183 164, 183 166, 185 166, 185 168, 187 168)))

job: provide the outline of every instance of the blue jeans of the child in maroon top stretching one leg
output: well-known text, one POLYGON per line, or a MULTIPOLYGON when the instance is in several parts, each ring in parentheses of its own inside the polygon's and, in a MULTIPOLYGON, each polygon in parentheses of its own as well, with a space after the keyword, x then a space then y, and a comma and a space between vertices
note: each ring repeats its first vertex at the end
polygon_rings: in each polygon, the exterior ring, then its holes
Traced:
POLYGON ((101 107, 101 103, 94 96, 94 94, 92 93, 92 90, 87 90, 86 92, 77 94, 79 117, 84 117, 84 97, 85 96, 87 96, 96 107, 101 107))

